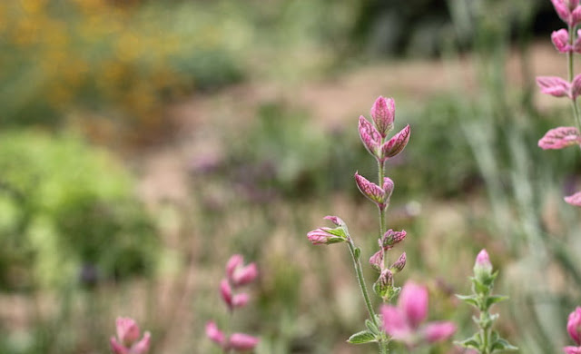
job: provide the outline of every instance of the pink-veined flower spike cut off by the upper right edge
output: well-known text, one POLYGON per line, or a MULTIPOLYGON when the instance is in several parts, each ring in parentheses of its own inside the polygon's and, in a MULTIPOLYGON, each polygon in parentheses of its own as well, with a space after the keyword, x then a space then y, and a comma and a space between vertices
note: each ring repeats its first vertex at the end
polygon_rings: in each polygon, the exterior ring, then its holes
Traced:
MULTIPOLYGON (((581 117, 577 107, 577 97, 581 95, 581 74, 574 76, 573 54, 581 54, 581 30, 576 30, 581 23, 581 5, 579 0, 551 0, 556 14, 566 23, 567 28, 551 34, 551 40, 559 53, 565 53, 568 62, 567 80, 556 76, 539 76, 537 84, 542 93, 556 97, 567 97, 573 107, 576 127, 565 126, 549 130, 538 146, 542 149, 564 149, 568 146, 581 146, 581 117)), ((581 192, 565 198, 569 204, 581 206, 581 192)))

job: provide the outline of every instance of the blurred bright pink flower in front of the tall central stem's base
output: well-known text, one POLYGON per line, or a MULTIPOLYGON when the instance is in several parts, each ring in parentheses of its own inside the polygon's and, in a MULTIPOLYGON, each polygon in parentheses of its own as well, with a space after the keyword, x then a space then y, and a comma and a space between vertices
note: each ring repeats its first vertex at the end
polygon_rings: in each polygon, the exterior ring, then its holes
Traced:
POLYGON ((428 290, 408 281, 399 294, 398 306, 383 305, 381 308, 383 329, 396 340, 414 346, 420 341, 428 343, 448 339, 456 331, 451 322, 420 324, 428 316, 428 290))

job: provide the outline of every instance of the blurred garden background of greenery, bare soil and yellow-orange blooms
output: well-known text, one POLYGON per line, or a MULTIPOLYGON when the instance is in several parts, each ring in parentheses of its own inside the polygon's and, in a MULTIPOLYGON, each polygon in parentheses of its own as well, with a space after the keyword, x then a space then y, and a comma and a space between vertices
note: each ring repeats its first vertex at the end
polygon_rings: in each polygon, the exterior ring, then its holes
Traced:
POLYGON ((218 353, 204 325, 228 321, 235 252, 261 270, 232 324, 257 353, 374 352, 345 343, 365 318, 347 248, 306 232, 339 215, 374 251, 353 173, 375 175, 357 118, 379 95, 412 131, 388 171, 398 281, 427 284, 463 339, 453 294, 486 247, 503 336, 560 351, 581 159, 537 148, 571 117, 534 78, 565 75, 561 26, 548 0, 0 2, 0 352, 108 353, 123 315, 153 353, 218 353))

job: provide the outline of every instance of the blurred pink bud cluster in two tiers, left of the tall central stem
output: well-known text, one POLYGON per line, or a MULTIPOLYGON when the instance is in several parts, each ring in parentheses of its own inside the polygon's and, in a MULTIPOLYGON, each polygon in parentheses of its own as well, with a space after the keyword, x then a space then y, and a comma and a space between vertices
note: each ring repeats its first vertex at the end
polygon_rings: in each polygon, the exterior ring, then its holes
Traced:
MULTIPOLYGON (((233 310, 244 307, 250 297, 245 292, 235 294, 232 289, 250 284, 258 276, 255 263, 244 265, 244 259, 240 254, 234 254, 226 263, 226 278, 220 282, 220 294, 230 313, 233 310)), ((218 329, 214 321, 206 324, 206 336, 218 344, 224 352, 229 350, 244 351, 256 347, 259 339, 244 333, 232 333, 227 336, 218 329)))

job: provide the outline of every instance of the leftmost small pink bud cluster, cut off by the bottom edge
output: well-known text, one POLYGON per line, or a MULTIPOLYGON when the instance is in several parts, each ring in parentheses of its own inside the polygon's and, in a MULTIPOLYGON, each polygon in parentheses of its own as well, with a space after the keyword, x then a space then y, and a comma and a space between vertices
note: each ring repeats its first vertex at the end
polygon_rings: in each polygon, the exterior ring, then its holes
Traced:
POLYGON ((140 338, 139 326, 135 320, 118 317, 116 322, 117 338, 111 338, 111 349, 114 354, 145 354, 149 351, 151 335, 149 332, 140 338))

